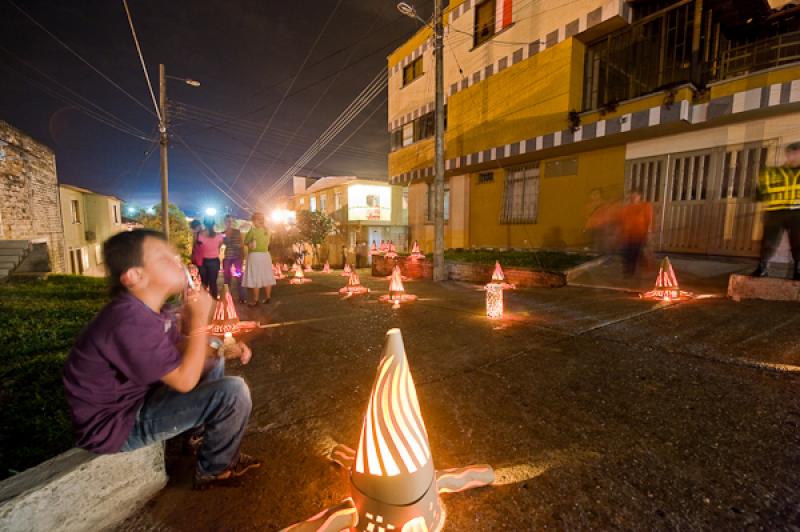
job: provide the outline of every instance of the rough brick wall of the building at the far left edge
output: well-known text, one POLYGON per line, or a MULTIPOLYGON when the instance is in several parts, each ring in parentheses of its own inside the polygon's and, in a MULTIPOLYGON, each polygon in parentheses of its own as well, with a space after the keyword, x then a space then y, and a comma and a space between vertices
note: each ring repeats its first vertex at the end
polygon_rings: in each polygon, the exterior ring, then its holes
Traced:
POLYGON ((0 149, 0 239, 46 243, 52 271, 65 271, 55 155, 2 120, 0 149))

